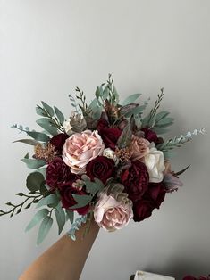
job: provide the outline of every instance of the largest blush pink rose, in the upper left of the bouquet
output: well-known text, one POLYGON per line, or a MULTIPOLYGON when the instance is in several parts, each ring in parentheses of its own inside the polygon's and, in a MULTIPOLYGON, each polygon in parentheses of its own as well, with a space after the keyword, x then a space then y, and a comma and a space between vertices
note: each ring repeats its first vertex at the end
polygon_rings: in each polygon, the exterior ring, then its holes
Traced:
POLYGON ((70 136, 63 145, 63 161, 75 174, 86 172, 89 161, 102 155, 105 144, 97 130, 85 130, 70 136))

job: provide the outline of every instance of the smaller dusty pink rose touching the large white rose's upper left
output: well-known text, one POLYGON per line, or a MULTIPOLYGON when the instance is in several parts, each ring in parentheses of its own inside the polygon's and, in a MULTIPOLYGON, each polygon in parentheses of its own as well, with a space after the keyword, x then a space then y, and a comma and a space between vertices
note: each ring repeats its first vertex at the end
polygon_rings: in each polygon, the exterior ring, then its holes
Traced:
POLYGON ((142 159, 149 152, 149 144, 150 143, 145 138, 132 136, 130 145, 131 159, 133 161, 139 161, 142 159))

